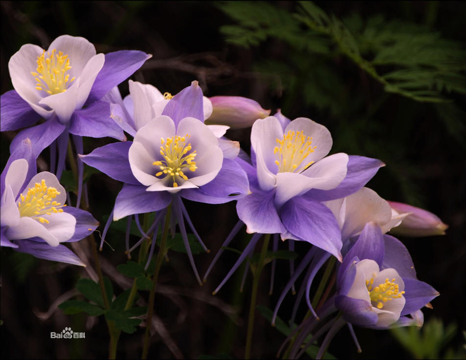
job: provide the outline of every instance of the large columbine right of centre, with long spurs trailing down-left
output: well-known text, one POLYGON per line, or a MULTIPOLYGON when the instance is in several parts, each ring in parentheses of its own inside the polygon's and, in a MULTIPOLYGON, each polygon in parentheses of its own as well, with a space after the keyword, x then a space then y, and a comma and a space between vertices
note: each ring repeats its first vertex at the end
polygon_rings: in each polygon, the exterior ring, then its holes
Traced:
MULTIPOLYGON (((328 256, 342 259, 340 228, 335 216, 321 201, 356 192, 384 164, 362 156, 348 157, 344 153, 326 156, 331 147, 330 132, 307 118, 290 121, 277 113, 254 122, 252 164, 237 159, 247 173, 251 189, 251 193, 237 203, 238 216, 246 224, 248 233, 278 233, 282 240, 307 241, 328 252, 328 256)), ((239 228, 235 227, 223 246, 228 246, 239 228)), ((251 239, 215 292, 245 260, 259 238, 251 239)), ((221 251, 205 276, 220 254, 221 251)), ((313 252, 309 256, 314 255, 313 252)))

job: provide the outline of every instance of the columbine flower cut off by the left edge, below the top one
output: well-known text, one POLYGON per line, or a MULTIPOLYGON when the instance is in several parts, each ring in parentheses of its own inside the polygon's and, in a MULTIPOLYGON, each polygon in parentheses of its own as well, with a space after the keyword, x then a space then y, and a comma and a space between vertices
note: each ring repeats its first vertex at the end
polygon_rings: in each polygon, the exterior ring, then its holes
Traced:
POLYGON ((26 140, 1 174, 1 246, 41 259, 84 265, 60 243, 81 240, 98 222, 89 213, 65 205, 66 192, 55 175, 35 171, 35 157, 26 140))

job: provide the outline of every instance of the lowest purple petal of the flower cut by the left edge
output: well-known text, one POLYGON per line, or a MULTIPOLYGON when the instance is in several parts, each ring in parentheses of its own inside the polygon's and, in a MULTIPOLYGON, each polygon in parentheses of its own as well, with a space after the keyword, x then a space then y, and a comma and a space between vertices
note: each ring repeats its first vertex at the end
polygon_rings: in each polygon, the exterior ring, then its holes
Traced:
POLYGON ((39 259, 58 261, 80 266, 86 266, 69 248, 65 245, 50 246, 47 242, 33 240, 16 241, 18 248, 16 251, 31 254, 39 259))

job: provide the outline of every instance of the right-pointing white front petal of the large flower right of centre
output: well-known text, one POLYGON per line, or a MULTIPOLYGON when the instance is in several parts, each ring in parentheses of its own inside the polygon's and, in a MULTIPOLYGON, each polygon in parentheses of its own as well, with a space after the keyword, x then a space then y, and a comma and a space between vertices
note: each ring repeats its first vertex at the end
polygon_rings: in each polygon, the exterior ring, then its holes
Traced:
POLYGON ((312 188, 320 190, 335 189, 346 176, 348 155, 340 152, 327 156, 301 172, 313 179, 312 188))

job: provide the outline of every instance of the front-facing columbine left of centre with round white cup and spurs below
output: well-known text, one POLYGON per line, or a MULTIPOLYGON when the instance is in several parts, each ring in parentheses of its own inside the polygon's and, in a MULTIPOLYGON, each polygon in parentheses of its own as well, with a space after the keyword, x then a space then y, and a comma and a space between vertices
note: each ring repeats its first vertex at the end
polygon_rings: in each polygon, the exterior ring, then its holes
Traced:
POLYGON ((108 144, 80 157, 86 164, 125 183, 115 201, 114 220, 161 211, 162 216, 157 216, 151 227, 153 230, 172 202, 174 216, 200 282, 184 219, 190 226, 192 224, 180 197, 212 204, 235 200, 238 196, 230 195, 241 196, 249 191, 246 174, 225 155, 219 139, 204 125, 203 97, 197 81, 174 96, 161 116, 147 121, 143 119, 152 114, 151 103, 139 97, 144 94, 136 95, 134 89, 131 93, 134 123, 145 122, 135 133, 134 141, 108 144))

